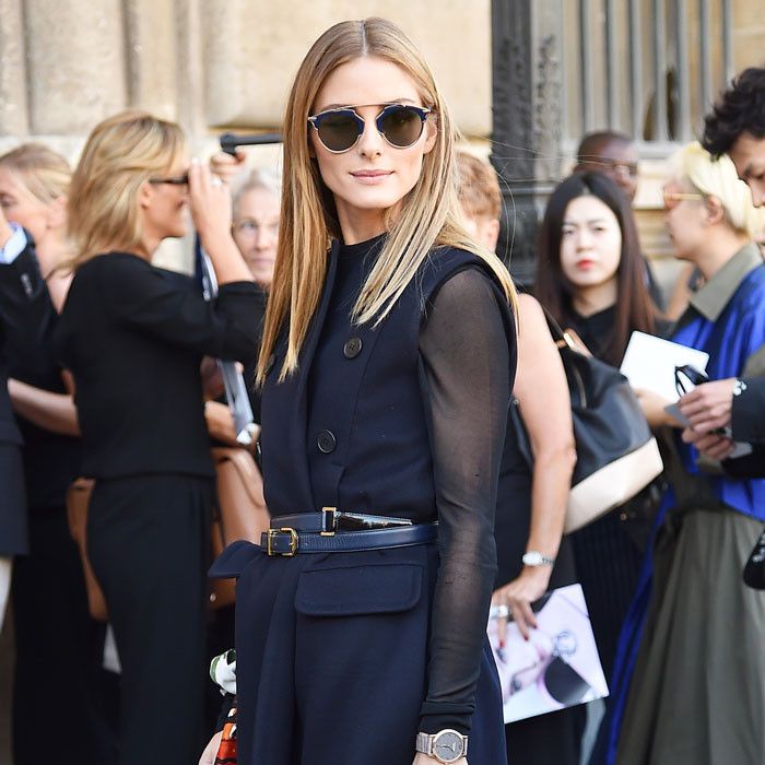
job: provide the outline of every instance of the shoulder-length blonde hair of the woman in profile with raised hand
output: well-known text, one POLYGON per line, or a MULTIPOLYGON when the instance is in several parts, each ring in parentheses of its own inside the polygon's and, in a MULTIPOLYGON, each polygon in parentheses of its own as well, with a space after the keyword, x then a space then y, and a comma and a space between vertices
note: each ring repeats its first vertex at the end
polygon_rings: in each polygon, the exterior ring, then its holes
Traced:
POLYGON ((146 111, 123 111, 97 125, 87 138, 70 187, 69 237, 76 270, 109 250, 134 252, 142 239, 139 191, 167 174, 186 152, 175 122, 146 111))

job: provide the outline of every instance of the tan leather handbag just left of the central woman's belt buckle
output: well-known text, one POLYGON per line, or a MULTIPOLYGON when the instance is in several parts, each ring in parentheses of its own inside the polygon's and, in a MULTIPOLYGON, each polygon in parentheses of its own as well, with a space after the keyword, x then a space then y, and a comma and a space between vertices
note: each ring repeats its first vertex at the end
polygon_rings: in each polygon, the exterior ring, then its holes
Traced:
MULTIPOLYGON (((216 446, 212 459, 217 475, 217 513, 212 521, 212 552, 217 557, 232 542, 246 539, 260 542, 270 516, 263 498, 263 479, 246 449, 216 446)), ((235 581, 214 579, 210 604, 220 609, 234 600, 235 581)))

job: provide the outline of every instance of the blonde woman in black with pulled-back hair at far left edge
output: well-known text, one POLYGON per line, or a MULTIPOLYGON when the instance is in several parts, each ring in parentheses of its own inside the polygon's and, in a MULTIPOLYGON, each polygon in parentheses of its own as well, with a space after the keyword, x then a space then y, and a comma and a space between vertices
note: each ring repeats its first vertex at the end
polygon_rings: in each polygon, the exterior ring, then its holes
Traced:
POLYGON ((16 765, 115 758, 115 681, 101 666, 105 631, 87 611, 64 506, 81 458, 76 411, 52 350, 55 307, 69 285, 56 264, 67 254, 70 177, 67 161, 43 144, 0 156, 0 200, 21 250, 0 266, 0 316, 8 328, 9 390, 24 438, 30 506, 30 554, 16 561, 12 587, 16 765), (31 301, 46 307, 34 322, 26 315, 31 301), (40 709, 56 714, 46 725, 49 734, 31 748, 40 709))

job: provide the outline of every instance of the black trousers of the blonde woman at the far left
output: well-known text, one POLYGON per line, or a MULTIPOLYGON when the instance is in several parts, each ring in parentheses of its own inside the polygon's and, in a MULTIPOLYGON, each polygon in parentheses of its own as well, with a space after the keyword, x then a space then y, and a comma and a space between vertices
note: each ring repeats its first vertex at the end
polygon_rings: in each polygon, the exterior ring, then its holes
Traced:
POLYGON ((63 507, 30 516, 30 554, 13 564, 15 765, 116 761, 116 678, 101 668, 105 627, 87 612, 63 507))

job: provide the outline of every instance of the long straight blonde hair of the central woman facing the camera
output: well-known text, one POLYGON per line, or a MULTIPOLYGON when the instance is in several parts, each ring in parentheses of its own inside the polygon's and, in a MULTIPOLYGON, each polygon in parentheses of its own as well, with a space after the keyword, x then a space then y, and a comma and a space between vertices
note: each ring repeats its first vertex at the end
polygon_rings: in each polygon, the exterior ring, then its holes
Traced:
POLYGON ((330 27, 311 46, 295 76, 284 117, 284 169, 279 247, 269 294, 258 381, 285 321, 287 352, 279 379, 297 369, 301 346, 323 286, 328 248, 341 236, 334 200, 308 150, 307 119, 318 91, 339 66, 365 56, 391 61, 409 74, 423 104, 437 121, 433 150, 423 160, 415 187, 407 195, 373 267, 352 317, 358 323, 381 321, 434 247, 460 247, 485 261, 515 305, 507 270, 493 252, 474 242, 460 223, 455 144, 457 129, 420 51, 385 19, 345 21, 330 27))

